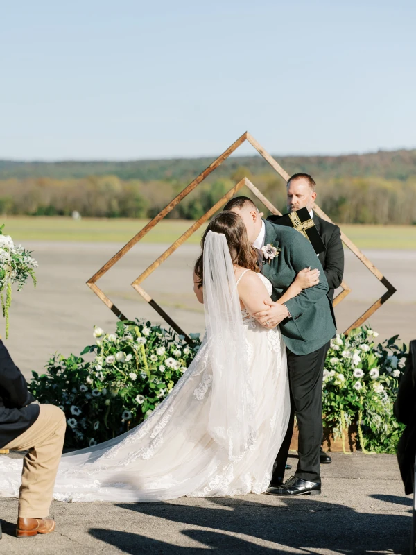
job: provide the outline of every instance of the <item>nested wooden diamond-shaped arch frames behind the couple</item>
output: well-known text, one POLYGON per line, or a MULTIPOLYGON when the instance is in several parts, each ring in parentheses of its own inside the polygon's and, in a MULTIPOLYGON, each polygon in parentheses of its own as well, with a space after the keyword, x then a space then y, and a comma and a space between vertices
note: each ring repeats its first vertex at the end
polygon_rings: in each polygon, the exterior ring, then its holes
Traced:
MULTIPOLYGON (((141 239, 143 239, 143 237, 150 230, 152 230, 155 227, 155 225, 159 223, 159 221, 164 219, 166 214, 171 212, 171 210, 173 210, 173 208, 177 206, 181 202, 181 200, 185 198, 185 196, 191 193, 193 189, 198 187, 200 182, 202 182, 205 178, 207 178, 207 176, 209 176, 209 174, 212 171, 214 171, 214 169, 218 168, 218 166, 220 166, 220 164, 222 164, 224 160, 226 160, 229 157, 229 155, 231 155, 234 151, 236 151, 236 149, 239 148, 239 146, 241 146, 241 144, 243 144, 243 142, 245 141, 248 141, 250 144, 252 144, 252 146, 254 146, 257 152, 270 164, 270 166, 275 171, 277 171, 277 173, 279 173, 279 176, 281 176, 286 182, 288 181, 290 177, 289 174, 286 171, 284 171, 284 169, 276 162, 276 160, 268 152, 264 150, 264 148, 256 141, 256 139, 254 139, 254 137, 250 135, 250 133, 248 132, 243 133, 243 135, 241 135, 241 137, 239 137, 239 139, 237 139, 236 142, 234 142, 231 146, 229 146, 229 148, 227 148, 227 150, 223 154, 218 156, 218 158, 216 158, 216 160, 214 160, 214 162, 212 162, 209 165, 209 167, 207 167, 207 169, 202 171, 202 173, 200 173, 200 175, 197 178, 195 178, 191 183, 189 183, 189 185, 185 187, 183 191, 181 191, 180 194, 178 194, 171 201, 171 203, 169 203, 161 212, 159 212, 159 214, 157 214, 157 216, 155 216, 153 220, 151 220, 147 225, 145 225, 144 228, 135 235, 135 237, 132 237, 132 239, 130 239, 130 241, 128 241, 128 243, 125 244, 125 246, 123 246, 123 248, 121 248, 121 250, 119 250, 118 253, 116 253, 108 262, 106 262, 104 266, 100 270, 98 270, 98 272, 96 272, 92 276, 92 278, 90 278, 87 281, 88 287, 90 287, 90 289, 92 289, 92 291, 94 291, 94 293, 96 293, 96 295, 99 298, 101 298, 101 300, 105 303, 105 305, 107 305, 107 307, 109 307, 114 312, 117 318, 120 318, 121 320, 128 320, 128 318, 124 316, 124 314, 116 307, 116 305, 114 305, 112 300, 110 300, 110 298, 108 298, 105 295, 105 293, 98 287, 98 285, 96 285, 96 282, 100 278, 102 278, 102 276, 105 273, 107 273, 107 271, 109 271, 110 268, 112 268, 112 266, 114 266, 114 264, 116 264, 116 262, 119 261, 119 259, 121 259, 126 253, 128 253, 128 251, 133 246, 135 246, 135 244, 137 244, 141 239)), ((153 262, 153 264, 150 264, 150 266, 148 266, 148 268, 143 273, 141 273, 141 275, 139 275, 139 277, 131 284, 132 287, 137 291, 137 293, 139 293, 144 298, 144 300, 146 300, 146 302, 148 302, 149 305, 153 307, 157 311, 157 313, 160 314, 160 316, 162 316, 162 318, 164 318, 166 323, 168 323, 173 328, 173 330, 175 330, 178 334, 183 335, 189 343, 192 342, 191 338, 180 328, 179 325, 177 325, 177 323, 175 323, 175 321, 172 320, 170 316, 168 316, 168 314, 166 314, 164 309, 162 309, 162 307, 160 307, 157 304, 157 302, 150 297, 150 295, 143 289, 143 287, 141 287, 141 283, 144 282, 144 280, 146 280, 146 278, 148 278, 148 276, 151 273, 153 273, 153 271, 155 271, 155 269, 158 268, 160 264, 162 264, 162 262, 166 260, 166 258, 168 258, 180 245, 182 245, 184 241, 186 241, 189 237, 191 237, 191 235, 194 232, 196 232, 196 230, 198 230, 201 227, 201 225, 203 225, 209 218, 211 218, 211 216, 214 216, 217 210, 220 210, 220 208, 223 205, 225 205, 228 202, 228 200, 232 198, 244 186, 248 187, 248 189, 252 191, 252 193, 261 201, 261 203, 263 203, 263 205, 265 205, 266 208, 268 208, 268 210, 272 212, 272 214, 277 214, 279 216, 281 215, 279 210, 277 210, 277 208, 273 206, 272 203, 270 203, 270 201, 263 194, 261 194, 261 191, 259 191, 259 189, 257 189, 257 187, 255 187, 255 185, 253 185, 253 183, 248 178, 243 178, 236 185, 234 185, 232 189, 229 189, 227 194, 225 194, 222 198, 220 198, 220 200, 218 200, 218 202, 214 204, 214 206, 211 207, 206 214, 204 214, 198 221, 193 223, 193 225, 191 225, 191 227, 186 232, 184 232, 184 234, 182 234, 181 237, 177 239, 177 241, 175 241, 175 243, 173 243, 162 255, 160 255, 155 260, 155 262, 153 262)), ((327 216, 327 214, 323 212, 323 210, 320 209, 320 207, 318 207, 318 205, 313 205, 313 210, 322 219, 331 222, 331 219, 327 216)), ((381 281, 381 283, 387 289, 387 291, 385 291, 383 296, 381 296, 378 300, 376 300, 376 302, 374 302, 374 304, 370 308, 368 308, 364 312, 364 314, 360 316, 360 318, 358 318, 354 323, 352 323, 352 325, 350 325, 347 328, 347 330, 345 330, 344 333, 347 334, 352 329, 354 329, 354 327, 358 327, 362 325, 367 320, 367 318, 370 318, 370 316, 374 314, 374 312, 377 309, 379 309, 381 305, 383 305, 384 302, 392 296, 393 293, 395 293, 396 289, 383 276, 381 271, 379 271, 379 269, 376 268, 376 266, 374 266, 374 264, 372 264, 372 262, 370 262, 369 259, 367 259, 367 257, 361 252, 361 250, 351 241, 351 239, 349 239, 345 235, 343 230, 341 230, 341 239, 343 243, 350 250, 352 250, 354 255, 356 255, 356 257, 358 257, 358 259, 360 259, 361 262, 363 262, 363 264, 370 270, 370 272, 373 275, 375 275, 376 278, 379 281, 381 281)), ((334 298, 333 306, 338 305, 338 302, 341 302, 352 291, 345 282, 342 282, 340 287, 343 289, 343 291, 341 291, 336 296, 336 298, 334 298)))

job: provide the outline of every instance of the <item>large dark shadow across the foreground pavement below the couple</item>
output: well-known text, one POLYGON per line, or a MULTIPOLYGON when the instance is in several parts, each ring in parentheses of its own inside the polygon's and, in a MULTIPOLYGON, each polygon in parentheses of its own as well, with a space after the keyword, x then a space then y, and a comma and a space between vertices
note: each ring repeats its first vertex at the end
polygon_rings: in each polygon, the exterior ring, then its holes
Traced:
MULTIPOLYGON (((373 497, 389 502, 390 498, 396 499, 395 496, 388 495, 373 497)), ((233 536, 245 534, 257 542, 268 541, 284 546, 288 553, 292 552, 290 548, 305 554, 323 549, 345 555, 408 553, 411 523, 406 514, 359 513, 347 506, 306 497, 279 499, 278 505, 250 502, 236 497, 211 498, 209 501, 211 506, 202 507, 173 503, 117 506, 183 524, 184 529, 180 533, 184 536, 224 552, 232 550, 233 553, 268 553, 278 549, 261 547, 250 540, 233 536), (189 529, 193 526, 210 530, 189 529)), ((134 531, 128 533, 92 529, 90 533, 126 553, 137 553, 141 549, 151 550, 152 546, 157 547, 157 553, 182 554, 185 551, 200 550, 196 547, 178 547, 164 542, 162 538, 146 538, 134 531)))

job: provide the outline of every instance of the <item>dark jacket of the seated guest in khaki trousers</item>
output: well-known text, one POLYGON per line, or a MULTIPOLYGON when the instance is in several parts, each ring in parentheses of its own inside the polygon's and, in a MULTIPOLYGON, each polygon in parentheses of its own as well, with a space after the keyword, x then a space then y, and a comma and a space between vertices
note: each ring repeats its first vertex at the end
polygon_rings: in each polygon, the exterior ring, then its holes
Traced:
POLYGON ((39 416, 39 405, 28 392, 24 375, 12 361, 0 339, 0 448, 31 427, 39 416))

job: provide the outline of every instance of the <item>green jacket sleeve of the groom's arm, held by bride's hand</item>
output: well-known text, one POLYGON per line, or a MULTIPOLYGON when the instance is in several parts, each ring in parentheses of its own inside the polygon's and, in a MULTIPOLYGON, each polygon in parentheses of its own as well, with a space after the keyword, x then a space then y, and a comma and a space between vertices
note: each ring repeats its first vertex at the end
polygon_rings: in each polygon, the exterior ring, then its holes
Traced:
POLYGON ((327 278, 325 278, 325 274, 322 271, 321 263, 319 262, 315 250, 313 250, 313 246, 309 243, 308 239, 305 239, 302 234, 296 232, 293 234, 293 239, 288 248, 290 264, 295 273, 298 273, 309 266, 312 270, 318 268, 318 270, 321 271, 318 285, 314 285, 308 289, 302 289, 299 295, 284 303, 292 318, 298 318, 320 298, 327 295, 328 283, 327 278))

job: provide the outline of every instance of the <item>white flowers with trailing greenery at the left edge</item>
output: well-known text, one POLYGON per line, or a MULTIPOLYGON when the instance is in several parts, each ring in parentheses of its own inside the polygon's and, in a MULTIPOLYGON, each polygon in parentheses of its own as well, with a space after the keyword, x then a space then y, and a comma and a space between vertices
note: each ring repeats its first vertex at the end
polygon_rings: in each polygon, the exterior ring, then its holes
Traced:
POLYGON ((20 291, 29 275, 36 287, 35 268, 36 260, 31 257, 31 252, 21 245, 16 246, 10 235, 3 235, 4 224, 0 226, 0 291, 1 308, 3 317, 6 318, 6 339, 9 332, 9 309, 12 303, 12 284, 17 283, 20 291), (4 293, 6 292, 6 299, 4 293))

